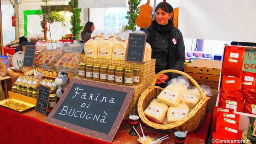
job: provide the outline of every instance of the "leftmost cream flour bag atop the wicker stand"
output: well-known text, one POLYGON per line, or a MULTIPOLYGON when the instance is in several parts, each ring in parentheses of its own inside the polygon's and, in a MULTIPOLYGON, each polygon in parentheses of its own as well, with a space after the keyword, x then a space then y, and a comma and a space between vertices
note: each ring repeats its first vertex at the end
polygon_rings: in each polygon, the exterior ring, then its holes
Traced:
POLYGON ((94 39, 89 39, 84 46, 85 57, 97 58, 99 44, 94 39))

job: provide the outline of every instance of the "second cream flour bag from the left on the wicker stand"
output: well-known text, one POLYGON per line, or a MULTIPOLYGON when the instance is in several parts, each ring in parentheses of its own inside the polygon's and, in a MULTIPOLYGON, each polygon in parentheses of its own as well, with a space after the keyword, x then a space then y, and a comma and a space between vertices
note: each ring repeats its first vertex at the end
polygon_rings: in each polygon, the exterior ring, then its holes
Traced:
POLYGON ((109 40, 103 40, 102 42, 100 42, 97 58, 111 60, 113 47, 113 43, 109 40))

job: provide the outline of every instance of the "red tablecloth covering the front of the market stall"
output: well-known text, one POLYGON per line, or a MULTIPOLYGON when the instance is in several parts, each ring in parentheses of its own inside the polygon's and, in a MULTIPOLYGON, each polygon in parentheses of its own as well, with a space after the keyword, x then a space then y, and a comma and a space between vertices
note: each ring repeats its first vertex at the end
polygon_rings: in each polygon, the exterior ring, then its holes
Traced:
MULTIPOLYGON (((71 132, 44 122, 45 116, 30 110, 18 113, 5 107, 0 107, 0 144, 106 144, 102 140, 94 139, 76 132, 71 132)), ((206 114, 198 130, 187 134, 185 144, 204 144, 207 141, 211 114, 206 114)), ((126 121, 120 125, 113 144, 137 144, 136 137, 128 134, 130 128, 126 121)), ((165 133, 152 131, 143 126, 145 135, 160 138, 165 133)), ((139 133, 139 127, 138 127, 139 133)), ((174 144, 173 134, 164 144, 174 144)))

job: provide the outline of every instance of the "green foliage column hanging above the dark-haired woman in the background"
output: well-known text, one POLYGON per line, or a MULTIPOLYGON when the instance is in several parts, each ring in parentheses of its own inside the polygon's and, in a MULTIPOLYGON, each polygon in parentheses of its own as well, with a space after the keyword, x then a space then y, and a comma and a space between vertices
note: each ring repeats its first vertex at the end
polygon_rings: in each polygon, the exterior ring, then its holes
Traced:
POLYGON ((78 35, 80 33, 80 30, 83 28, 83 26, 80 26, 81 20, 80 20, 80 12, 81 9, 78 9, 78 0, 71 0, 69 2, 70 10, 73 13, 71 16, 71 25, 72 28, 70 28, 70 31, 73 35, 73 40, 78 39, 78 35))

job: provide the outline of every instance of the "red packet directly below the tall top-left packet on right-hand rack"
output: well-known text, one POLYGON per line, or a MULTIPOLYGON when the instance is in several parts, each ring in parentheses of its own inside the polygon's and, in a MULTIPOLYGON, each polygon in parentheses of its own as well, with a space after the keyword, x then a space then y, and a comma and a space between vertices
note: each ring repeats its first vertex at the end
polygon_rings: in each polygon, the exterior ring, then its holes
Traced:
POLYGON ((225 88, 227 90, 241 90, 242 77, 222 75, 222 88, 225 88))

